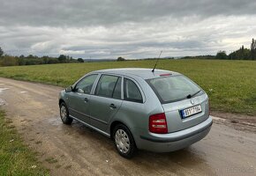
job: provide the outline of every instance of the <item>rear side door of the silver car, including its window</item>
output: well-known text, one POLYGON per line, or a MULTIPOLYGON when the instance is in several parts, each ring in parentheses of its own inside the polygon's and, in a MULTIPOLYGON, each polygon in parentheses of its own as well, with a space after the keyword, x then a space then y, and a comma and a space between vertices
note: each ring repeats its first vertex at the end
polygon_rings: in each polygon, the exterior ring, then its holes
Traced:
POLYGON ((91 125, 105 131, 110 119, 117 114, 121 99, 122 77, 102 75, 90 99, 91 125))

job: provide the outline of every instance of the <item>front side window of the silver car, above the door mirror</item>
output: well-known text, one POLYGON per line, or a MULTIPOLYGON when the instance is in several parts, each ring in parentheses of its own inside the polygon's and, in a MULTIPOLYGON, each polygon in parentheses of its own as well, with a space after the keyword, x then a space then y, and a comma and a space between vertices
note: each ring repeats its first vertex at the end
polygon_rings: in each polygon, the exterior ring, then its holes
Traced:
POLYGON ((75 92, 89 94, 93 88, 94 82, 97 77, 98 75, 89 75, 87 77, 84 77, 76 85, 75 92))

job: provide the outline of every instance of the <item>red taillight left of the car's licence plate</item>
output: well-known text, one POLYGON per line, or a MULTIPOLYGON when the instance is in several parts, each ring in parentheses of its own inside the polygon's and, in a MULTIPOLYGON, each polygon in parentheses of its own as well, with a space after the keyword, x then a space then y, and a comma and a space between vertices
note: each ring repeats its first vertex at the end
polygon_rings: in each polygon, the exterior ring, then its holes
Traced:
POLYGON ((165 114, 154 114, 149 117, 149 131, 152 133, 166 134, 168 133, 165 114))

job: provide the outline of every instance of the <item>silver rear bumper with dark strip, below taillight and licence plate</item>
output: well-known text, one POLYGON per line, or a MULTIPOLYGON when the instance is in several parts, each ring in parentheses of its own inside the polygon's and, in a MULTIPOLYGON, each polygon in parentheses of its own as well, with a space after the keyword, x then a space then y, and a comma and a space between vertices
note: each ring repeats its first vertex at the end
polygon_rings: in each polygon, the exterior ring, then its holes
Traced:
POLYGON ((213 120, 209 116, 206 121, 203 121, 192 128, 186 128, 181 131, 163 135, 150 133, 149 136, 139 136, 139 141, 136 143, 139 149, 151 150, 154 152, 180 150, 207 136, 212 124, 213 120))

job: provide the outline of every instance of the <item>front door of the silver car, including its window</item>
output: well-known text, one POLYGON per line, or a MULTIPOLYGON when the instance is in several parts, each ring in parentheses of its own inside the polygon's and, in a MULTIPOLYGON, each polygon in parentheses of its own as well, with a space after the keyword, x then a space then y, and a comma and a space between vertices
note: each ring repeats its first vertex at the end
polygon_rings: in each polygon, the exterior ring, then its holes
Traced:
POLYGON ((93 74, 82 78, 79 83, 75 85, 73 91, 68 95, 70 115, 80 121, 86 122, 87 124, 90 123, 90 93, 97 77, 98 74, 93 74))

